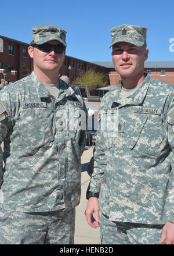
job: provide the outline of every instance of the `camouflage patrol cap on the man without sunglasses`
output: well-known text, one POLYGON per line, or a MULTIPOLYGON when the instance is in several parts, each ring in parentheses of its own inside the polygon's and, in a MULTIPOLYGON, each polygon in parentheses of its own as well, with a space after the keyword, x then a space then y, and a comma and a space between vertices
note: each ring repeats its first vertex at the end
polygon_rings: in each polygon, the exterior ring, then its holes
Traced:
POLYGON ((117 42, 129 42, 130 44, 142 47, 146 44, 147 27, 124 24, 111 29, 112 44, 117 42))

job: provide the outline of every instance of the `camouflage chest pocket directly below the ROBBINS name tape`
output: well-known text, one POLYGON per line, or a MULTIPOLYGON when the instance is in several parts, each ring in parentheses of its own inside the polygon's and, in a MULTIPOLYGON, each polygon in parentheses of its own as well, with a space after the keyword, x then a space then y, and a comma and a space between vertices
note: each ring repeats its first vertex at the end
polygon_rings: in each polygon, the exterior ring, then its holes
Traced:
POLYGON ((39 148, 53 141, 51 131, 52 117, 44 113, 44 108, 21 108, 14 120, 16 136, 19 137, 19 148, 24 154, 34 155, 39 148))

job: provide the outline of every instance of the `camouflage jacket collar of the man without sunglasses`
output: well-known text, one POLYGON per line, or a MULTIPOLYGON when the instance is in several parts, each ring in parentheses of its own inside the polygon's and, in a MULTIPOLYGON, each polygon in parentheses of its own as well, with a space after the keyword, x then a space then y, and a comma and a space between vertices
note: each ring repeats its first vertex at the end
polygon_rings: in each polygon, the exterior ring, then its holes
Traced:
POLYGON ((148 87, 150 86, 151 77, 149 74, 144 78, 144 81, 139 84, 139 89, 135 91, 135 93, 129 95, 129 97, 125 98, 122 93, 122 83, 119 83, 119 86, 116 90, 113 90, 113 93, 111 94, 111 101, 110 104, 113 104, 114 102, 118 102, 120 106, 124 105, 140 105, 142 104, 144 98, 146 97, 148 87))

